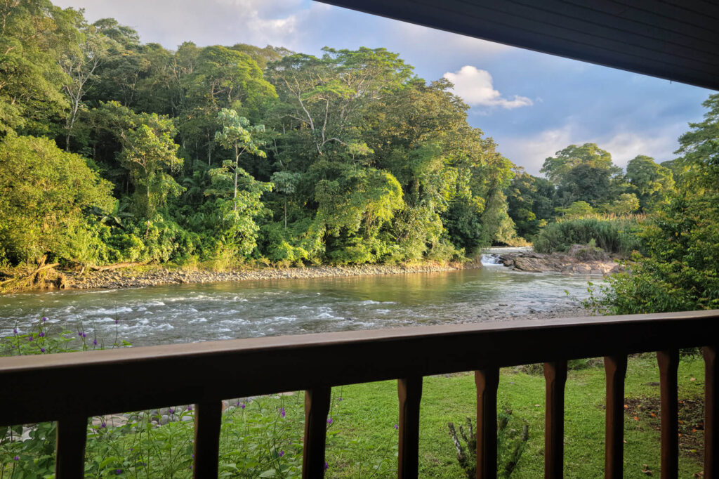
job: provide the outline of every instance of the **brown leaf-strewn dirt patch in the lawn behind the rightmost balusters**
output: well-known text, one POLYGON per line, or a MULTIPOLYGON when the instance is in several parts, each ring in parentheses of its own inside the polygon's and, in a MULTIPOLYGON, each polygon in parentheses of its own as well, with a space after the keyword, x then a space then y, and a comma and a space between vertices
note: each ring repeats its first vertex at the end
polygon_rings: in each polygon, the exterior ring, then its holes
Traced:
MULTIPOLYGON (((625 398, 625 414, 639 424, 659 431, 659 398, 625 398)), ((704 399, 679 400, 679 453, 704 460, 704 399)))

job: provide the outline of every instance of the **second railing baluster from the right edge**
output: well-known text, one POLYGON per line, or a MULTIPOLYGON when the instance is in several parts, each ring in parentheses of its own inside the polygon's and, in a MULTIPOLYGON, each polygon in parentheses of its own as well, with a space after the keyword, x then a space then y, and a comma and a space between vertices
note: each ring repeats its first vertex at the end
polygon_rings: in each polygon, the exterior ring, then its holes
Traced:
POLYGON ((676 479, 679 477, 679 350, 659 351, 656 360, 659 363, 661 399, 661 479, 676 479))

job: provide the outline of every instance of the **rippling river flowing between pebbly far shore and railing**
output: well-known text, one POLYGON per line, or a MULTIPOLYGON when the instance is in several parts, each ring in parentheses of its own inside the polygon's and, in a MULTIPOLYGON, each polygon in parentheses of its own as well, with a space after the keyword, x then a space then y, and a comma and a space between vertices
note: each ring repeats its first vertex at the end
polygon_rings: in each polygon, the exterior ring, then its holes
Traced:
POLYGON ((58 331, 104 342, 158 345, 455 321, 493 321, 567 309, 587 280, 497 264, 446 273, 202 283, 0 296, 0 337, 45 315, 58 331), (567 293, 569 292, 569 296, 567 293), (115 324, 115 321, 118 324, 115 324))

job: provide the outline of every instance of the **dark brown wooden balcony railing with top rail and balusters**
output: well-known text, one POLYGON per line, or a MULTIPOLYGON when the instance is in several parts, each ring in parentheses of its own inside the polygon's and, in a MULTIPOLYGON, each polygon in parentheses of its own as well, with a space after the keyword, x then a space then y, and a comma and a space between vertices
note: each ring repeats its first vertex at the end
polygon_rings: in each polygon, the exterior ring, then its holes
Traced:
POLYGON ((475 370, 477 478, 497 474, 499 368, 544 362, 546 478, 561 478, 567 360, 605 357, 605 477, 623 474, 627 355, 657 351, 661 477, 677 478, 679 348, 705 357, 704 478, 719 478, 719 311, 379 329, 0 359, 0 425, 58 421, 58 479, 81 478, 87 418, 196 403, 194 475, 218 471, 221 400, 306 390, 303 477, 324 475, 330 388, 398 379, 398 476, 418 473, 422 377, 475 370), (177 380, 172 371, 182 370, 177 380), (88 387, 103 378, 104 387, 88 387), (80 392, 81 391, 81 392, 80 392))

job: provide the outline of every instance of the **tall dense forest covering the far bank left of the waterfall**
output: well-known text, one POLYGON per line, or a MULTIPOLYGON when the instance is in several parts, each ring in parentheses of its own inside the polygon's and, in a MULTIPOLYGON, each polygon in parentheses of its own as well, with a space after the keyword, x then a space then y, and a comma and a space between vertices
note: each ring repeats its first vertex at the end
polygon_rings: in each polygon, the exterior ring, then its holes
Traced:
POLYGON ((48 0, 0 16, 2 169, 27 176, 33 144, 68 175, 3 206, 4 263, 444 261, 515 234, 512 163, 395 53, 171 51, 48 0))

